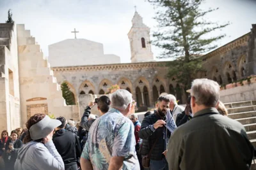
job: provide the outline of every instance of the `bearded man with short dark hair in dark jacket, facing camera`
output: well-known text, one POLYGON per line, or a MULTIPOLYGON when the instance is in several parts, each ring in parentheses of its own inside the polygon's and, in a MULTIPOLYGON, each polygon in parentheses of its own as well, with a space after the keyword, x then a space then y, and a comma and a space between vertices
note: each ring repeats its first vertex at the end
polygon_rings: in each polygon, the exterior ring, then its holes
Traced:
POLYGON ((161 96, 157 99, 154 114, 145 117, 141 124, 140 138, 143 139, 141 155, 148 155, 150 149, 150 169, 168 169, 168 163, 164 156, 166 142, 170 138, 170 132, 164 126, 166 113, 169 106, 169 98, 161 96))

